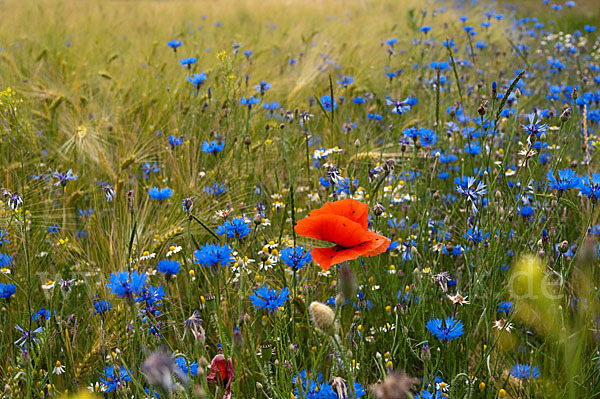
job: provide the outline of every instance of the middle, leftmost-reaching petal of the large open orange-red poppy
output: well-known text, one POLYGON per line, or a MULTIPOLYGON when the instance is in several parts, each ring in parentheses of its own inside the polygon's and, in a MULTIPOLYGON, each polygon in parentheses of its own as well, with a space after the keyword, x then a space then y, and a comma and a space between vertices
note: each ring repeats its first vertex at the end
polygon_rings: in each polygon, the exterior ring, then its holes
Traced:
POLYGON ((353 247, 369 241, 368 232, 360 224, 339 215, 309 215, 299 220, 296 233, 317 240, 333 242, 342 247, 353 247))

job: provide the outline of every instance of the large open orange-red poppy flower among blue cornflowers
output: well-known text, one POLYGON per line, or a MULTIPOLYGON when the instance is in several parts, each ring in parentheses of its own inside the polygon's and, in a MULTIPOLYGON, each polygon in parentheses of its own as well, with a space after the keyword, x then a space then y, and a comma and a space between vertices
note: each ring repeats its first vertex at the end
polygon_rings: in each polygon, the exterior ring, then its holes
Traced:
POLYGON ((317 240, 336 244, 331 248, 314 248, 313 260, 323 270, 332 265, 356 259, 359 256, 375 256, 385 252, 390 239, 367 230, 369 206, 362 202, 345 199, 327 202, 321 209, 313 210, 298 221, 296 233, 317 240))

